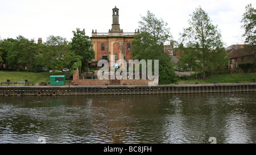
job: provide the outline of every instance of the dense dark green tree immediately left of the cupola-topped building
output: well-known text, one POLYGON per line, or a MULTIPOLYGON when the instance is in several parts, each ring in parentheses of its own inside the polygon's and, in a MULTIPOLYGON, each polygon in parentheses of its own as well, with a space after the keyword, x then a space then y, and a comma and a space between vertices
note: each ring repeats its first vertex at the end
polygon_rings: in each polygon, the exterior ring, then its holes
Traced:
MULTIPOLYGON (((81 58, 81 68, 80 70, 86 70, 88 68, 89 62, 94 58, 95 52, 93 50, 93 44, 90 40, 89 36, 85 35, 85 30, 80 30, 80 28, 76 28, 76 31, 73 32, 73 38, 71 42, 71 50, 75 52, 75 55, 80 56, 78 59, 81 58)), ((80 64, 80 60, 76 61, 80 64)), ((76 63, 76 64, 77 64, 76 63)), ((77 65, 80 66, 80 65, 77 65)))

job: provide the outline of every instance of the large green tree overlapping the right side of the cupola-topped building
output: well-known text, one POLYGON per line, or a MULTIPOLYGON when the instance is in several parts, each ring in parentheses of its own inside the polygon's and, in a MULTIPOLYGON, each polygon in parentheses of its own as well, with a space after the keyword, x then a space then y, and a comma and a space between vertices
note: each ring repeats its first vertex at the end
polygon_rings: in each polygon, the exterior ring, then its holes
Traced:
MULTIPOLYGON (((139 21, 140 33, 133 40, 134 60, 159 60, 159 84, 177 81, 171 57, 164 52, 163 44, 171 38, 170 29, 163 19, 158 19, 150 11, 139 21)), ((154 67, 154 61, 152 61, 154 67)))

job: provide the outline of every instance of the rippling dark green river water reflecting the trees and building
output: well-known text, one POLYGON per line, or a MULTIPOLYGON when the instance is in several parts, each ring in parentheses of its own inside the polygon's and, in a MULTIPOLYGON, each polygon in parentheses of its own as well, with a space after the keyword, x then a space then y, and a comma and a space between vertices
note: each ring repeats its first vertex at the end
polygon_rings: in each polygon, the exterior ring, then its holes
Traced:
POLYGON ((255 94, 0 97, 0 143, 256 143, 255 94))

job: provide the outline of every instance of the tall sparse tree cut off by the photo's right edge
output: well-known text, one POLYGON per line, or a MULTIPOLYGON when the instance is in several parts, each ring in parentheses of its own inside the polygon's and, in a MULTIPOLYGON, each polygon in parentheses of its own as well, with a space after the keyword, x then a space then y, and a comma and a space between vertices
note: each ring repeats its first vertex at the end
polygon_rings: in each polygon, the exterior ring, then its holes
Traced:
POLYGON ((245 33, 243 33, 245 44, 253 45, 256 58, 256 9, 254 9, 251 4, 245 7, 245 13, 242 16, 241 22, 243 23, 242 28, 245 30, 245 33))

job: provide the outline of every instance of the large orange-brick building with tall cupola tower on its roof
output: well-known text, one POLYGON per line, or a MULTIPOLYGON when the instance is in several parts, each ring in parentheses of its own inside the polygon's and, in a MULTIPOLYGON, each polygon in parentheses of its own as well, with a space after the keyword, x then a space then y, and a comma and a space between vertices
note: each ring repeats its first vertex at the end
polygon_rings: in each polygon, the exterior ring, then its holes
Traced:
POLYGON ((114 7, 113 10, 113 23, 109 32, 99 33, 97 30, 92 31, 90 39, 93 42, 93 49, 95 57, 92 60, 92 66, 97 66, 97 62, 101 59, 109 61, 110 55, 114 55, 115 62, 117 60, 125 60, 128 62, 133 56, 131 55, 132 44, 134 36, 138 32, 123 32, 119 26, 119 9, 114 7))

